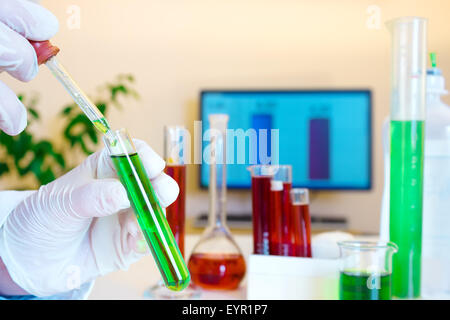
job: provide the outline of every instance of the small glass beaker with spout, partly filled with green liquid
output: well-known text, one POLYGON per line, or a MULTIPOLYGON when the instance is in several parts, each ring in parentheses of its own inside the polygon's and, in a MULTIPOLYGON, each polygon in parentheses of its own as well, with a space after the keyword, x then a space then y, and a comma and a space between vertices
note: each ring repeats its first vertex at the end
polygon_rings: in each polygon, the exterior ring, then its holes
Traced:
POLYGON ((340 249, 339 297, 341 300, 390 300, 392 242, 342 241, 340 249))

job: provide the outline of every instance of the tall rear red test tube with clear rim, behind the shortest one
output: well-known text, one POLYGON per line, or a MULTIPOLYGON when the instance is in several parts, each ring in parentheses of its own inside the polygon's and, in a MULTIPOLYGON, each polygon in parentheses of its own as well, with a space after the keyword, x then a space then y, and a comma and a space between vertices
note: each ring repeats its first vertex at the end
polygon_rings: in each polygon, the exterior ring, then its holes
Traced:
MULTIPOLYGON (((283 184, 282 189, 282 208, 281 208, 281 253, 283 256, 294 256, 294 233, 293 221, 291 219, 291 189, 292 189, 292 166, 291 165, 273 165, 272 181, 280 181, 283 184)), ((269 221, 270 222, 270 221, 269 221)))

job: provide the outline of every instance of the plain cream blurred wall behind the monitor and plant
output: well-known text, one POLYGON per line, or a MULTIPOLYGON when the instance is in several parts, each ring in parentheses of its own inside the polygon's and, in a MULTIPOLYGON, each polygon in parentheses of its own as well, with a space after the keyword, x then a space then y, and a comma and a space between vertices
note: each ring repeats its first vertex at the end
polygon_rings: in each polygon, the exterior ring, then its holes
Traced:
MULTIPOLYGON (((383 189, 381 126, 389 113, 390 36, 394 17, 429 18, 429 50, 450 75, 450 2, 441 0, 43 0, 59 18, 53 39, 60 60, 87 93, 119 73, 131 73, 141 98, 113 110, 126 127, 162 153, 163 126, 193 132, 204 88, 370 88, 373 90, 373 188, 318 192, 313 214, 346 216, 352 229, 377 232, 383 189), (75 5, 75 7, 74 7, 75 5), (74 11, 75 8, 75 11, 74 11), (80 20, 76 18, 79 8, 80 20), (378 19, 379 18, 379 19, 378 19), (75 23, 74 23, 75 22, 75 23), (79 25, 78 23, 79 22, 79 25), (78 28, 79 26, 79 28, 78 28)), ((70 101, 42 68, 24 84, 0 75, 16 92, 36 92, 44 114, 33 130, 52 137, 70 101)), ((448 102, 448 100, 447 100, 448 102)), ((189 215, 207 211, 189 167, 189 215)), ((0 179, 0 187, 14 187, 0 179)), ((229 212, 250 211, 249 192, 229 192, 229 212)))

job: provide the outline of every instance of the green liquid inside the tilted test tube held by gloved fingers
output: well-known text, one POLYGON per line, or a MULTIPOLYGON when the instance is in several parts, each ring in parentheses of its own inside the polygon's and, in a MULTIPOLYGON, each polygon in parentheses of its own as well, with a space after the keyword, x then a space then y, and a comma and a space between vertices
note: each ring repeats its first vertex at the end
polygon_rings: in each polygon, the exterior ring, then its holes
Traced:
POLYGON ((128 198, 166 287, 174 291, 183 290, 189 285, 189 271, 158 202, 155 191, 144 171, 141 159, 136 153, 128 157, 124 155, 111 156, 111 159, 116 167, 120 181, 127 189, 128 198), (145 193, 148 195, 155 218, 152 217, 152 213, 140 191, 129 160, 131 160, 145 193), (158 231, 158 226, 161 229, 160 232, 158 231))

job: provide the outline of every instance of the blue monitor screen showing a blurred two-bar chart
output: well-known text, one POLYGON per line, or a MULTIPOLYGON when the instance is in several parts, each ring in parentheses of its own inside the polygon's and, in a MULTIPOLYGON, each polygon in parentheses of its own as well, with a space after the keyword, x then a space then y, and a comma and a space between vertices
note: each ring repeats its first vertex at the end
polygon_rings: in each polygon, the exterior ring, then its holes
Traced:
MULTIPOLYGON (((238 152, 234 152, 235 159, 227 159, 229 188, 250 188, 247 167, 255 162, 270 162, 274 152, 278 152, 279 164, 292 165, 294 187, 371 187, 369 90, 206 90, 201 92, 200 113, 203 132, 209 129, 210 114, 224 113, 229 115, 229 129, 241 129, 247 134, 245 159, 237 159, 238 152), (251 139, 248 129, 267 134, 251 139), (261 150, 261 139, 267 141, 266 150, 261 150), (256 150, 256 158, 252 158, 252 150, 256 150)), ((228 135, 228 148, 234 137, 228 135)), ((206 147, 204 142, 203 150, 206 147)), ((236 149, 237 143, 231 148, 236 149)), ((209 165, 203 161, 200 185, 207 187, 208 182, 209 165)))

